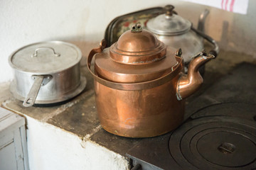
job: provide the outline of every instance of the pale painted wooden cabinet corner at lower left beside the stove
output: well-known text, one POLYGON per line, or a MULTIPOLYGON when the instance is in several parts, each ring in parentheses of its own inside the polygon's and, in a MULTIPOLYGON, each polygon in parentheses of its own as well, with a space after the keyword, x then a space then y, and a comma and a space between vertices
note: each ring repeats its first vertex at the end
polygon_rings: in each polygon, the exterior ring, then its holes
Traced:
POLYGON ((0 169, 28 170, 25 118, 0 107, 0 169))

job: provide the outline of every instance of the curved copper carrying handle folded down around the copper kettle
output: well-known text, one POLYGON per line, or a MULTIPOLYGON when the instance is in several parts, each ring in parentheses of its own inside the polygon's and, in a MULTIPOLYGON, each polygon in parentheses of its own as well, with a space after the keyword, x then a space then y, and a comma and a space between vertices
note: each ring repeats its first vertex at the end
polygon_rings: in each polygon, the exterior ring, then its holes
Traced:
POLYGON ((142 90, 142 89, 150 89, 154 88, 156 86, 160 86, 161 84, 165 84, 166 82, 170 81, 174 77, 176 77, 183 68, 182 64, 182 58, 176 56, 176 61, 178 62, 174 67, 171 68, 171 72, 164 75, 163 77, 159 77, 158 79, 154 79, 151 81, 144 81, 139 83, 117 83, 112 81, 107 81, 106 79, 102 79, 98 77, 94 72, 91 70, 91 62, 92 58, 95 56, 96 53, 102 52, 102 50, 105 49, 107 43, 106 40, 102 40, 100 42, 100 47, 92 49, 87 57, 87 68, 89 69, 90 73, 92 74, 95 81, 99 82, 100 84, 110 87, 112 89, 118 89, 118 90, 126 90, 126 91, 132 91, 132 90, 142 90))

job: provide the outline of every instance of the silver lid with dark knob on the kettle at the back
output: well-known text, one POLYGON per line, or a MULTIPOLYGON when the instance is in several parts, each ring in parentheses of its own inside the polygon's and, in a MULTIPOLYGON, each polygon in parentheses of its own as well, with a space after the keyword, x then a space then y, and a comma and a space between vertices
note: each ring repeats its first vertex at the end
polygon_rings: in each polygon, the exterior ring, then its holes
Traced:
POLYGON ((174 6, 165 6, 166 13, 152 18, 146 27, 159 35, 179 35, 191 29, 192 23, 174 13, 174 6))

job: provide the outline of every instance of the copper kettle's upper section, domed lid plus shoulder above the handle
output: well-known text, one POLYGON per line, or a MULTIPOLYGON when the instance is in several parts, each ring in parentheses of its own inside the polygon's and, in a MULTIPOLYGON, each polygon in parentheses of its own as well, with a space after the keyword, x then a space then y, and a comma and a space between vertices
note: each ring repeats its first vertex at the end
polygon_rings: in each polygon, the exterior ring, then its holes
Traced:
POLYGON ((95 73, 117 83, 151 81, 172 72, 177 64, 175 52, 137 24, 95 55, 95 73))

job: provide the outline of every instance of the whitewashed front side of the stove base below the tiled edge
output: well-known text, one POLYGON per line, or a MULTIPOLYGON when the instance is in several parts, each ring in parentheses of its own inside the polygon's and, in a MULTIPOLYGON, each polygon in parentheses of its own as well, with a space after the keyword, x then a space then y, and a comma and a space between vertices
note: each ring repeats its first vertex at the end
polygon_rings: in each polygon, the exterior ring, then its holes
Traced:
POLYGON ((126 170, 127 159, 90 140, 26 116, 31 170, 126 170))

